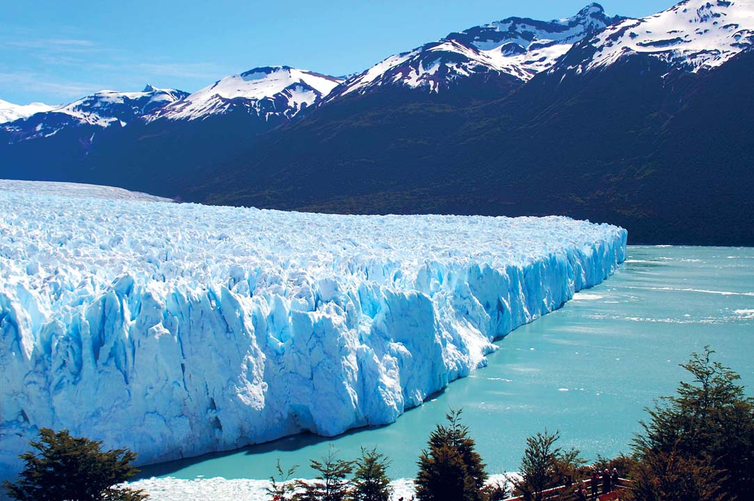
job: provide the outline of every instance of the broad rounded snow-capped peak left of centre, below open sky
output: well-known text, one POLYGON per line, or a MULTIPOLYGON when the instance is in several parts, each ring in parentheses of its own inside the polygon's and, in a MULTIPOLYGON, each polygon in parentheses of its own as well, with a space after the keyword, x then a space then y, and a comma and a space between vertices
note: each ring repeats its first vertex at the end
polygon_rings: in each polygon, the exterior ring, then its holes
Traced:
POLYGON ((244 109, 268 120, 293 118, 315 105, 338 84, 339 78, 289 66, 265 66, 230 75, 173 102, 145 119, 196 120, 244 109))

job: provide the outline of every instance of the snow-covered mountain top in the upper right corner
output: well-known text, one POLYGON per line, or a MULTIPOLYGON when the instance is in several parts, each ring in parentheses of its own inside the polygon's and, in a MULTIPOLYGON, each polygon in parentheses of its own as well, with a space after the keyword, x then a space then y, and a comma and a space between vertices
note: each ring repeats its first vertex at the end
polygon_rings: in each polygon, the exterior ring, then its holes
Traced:
POLYGON ((754 46, 754 0, 686 0, 667 11, 627 19, 597 33, 578 71, 604 68, 643 53, 689 72, 722 65, 754 46))

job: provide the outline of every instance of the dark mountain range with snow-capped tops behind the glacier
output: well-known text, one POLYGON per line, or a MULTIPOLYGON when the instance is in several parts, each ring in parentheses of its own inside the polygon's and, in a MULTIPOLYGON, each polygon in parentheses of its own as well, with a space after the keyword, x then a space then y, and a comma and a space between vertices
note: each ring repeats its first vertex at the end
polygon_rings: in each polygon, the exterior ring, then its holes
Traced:
POLYGON ((32 115, 0 102, 0 177, 317 212, 556 213, 633 243, 752 245, 752 45, 754 0, 642 19, 590 4, 348 78, 276 66, 32 115))

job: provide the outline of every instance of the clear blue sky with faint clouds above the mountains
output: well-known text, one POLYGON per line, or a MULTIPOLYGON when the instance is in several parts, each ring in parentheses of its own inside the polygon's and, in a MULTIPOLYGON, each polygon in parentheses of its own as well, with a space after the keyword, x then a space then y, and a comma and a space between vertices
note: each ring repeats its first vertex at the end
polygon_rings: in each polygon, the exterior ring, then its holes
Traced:
MULTIPOLYGON (((360 72, 449 32, 520 16, 569 17, 587 0, 24 0, 0 17, 0 99, 69 102, 147 83, 192 92, 285 64, 360 72)), ((600 2, 641 17, 673 0, 600 2)))

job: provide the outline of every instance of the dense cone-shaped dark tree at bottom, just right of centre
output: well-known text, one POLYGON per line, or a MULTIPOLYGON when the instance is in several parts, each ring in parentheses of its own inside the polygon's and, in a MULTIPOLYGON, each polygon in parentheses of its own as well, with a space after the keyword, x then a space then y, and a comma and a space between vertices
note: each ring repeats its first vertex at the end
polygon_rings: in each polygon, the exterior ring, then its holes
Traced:
POLYGON ((422 501, 481 501, 484 499, 482 458, 474 451, 474 439, 461 424, 461 411, 446 414, 447 426, 437 425, 421 451, 416 478, 416 497, 422 501))

